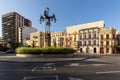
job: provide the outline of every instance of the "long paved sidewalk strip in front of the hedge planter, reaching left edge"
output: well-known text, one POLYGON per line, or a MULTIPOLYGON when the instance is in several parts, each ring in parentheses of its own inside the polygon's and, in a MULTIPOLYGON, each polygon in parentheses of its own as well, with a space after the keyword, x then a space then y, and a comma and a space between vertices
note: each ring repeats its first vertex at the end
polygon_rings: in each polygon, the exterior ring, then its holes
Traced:
POLYGON ((15 54, 10 55, 0 55, 0 61, 6 62, 50 62, 50 61, 75 61, 75 60, 84 60, 87 57, 80 57, 80 58, 24 58, 24 57, 17 57, 15 54))

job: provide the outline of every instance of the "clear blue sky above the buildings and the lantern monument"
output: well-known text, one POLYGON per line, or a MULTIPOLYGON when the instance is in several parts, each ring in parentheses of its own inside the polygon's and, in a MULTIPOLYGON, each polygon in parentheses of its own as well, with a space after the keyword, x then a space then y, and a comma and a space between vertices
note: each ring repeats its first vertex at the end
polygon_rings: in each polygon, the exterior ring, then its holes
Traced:
MULTIPOLYGON (((57 17, 51 31, 64 31, 67 26, 99 20, 104 20, 107 28, 115 26, 120 30, 120 0, 1 0, 0 16, 2 18, 2 14, 11 11, 18 12, 42 31, 45 24, 39 24, 39 17, 46 7, 57 17)), ((0 19, 0 36, 1 29, 0 19)))

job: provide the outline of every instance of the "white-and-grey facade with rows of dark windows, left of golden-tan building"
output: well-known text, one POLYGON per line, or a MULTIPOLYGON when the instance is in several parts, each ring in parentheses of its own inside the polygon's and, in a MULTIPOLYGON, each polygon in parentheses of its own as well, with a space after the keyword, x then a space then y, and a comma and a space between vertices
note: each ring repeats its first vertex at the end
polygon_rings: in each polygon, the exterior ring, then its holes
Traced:
POLYGON ((99 53, 100 28, 87 28, 79 30, 80 53, 99 53))

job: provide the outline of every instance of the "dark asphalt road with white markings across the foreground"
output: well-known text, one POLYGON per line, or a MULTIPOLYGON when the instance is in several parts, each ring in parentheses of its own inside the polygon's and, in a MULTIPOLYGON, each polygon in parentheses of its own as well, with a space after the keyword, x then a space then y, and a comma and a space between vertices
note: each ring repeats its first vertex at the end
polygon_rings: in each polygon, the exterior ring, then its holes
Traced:
POLYGON ((120 80, 120 56, 83 61, 0 62, 0 80, 120 80))

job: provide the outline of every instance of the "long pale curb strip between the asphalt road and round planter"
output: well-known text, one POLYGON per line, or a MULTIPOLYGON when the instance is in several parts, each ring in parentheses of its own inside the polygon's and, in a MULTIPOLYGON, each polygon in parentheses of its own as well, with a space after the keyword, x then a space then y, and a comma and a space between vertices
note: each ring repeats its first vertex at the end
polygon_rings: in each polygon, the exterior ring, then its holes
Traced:
POLYGON ((38 59, 36 58, 4 58, 4 59, 0 59, 0 61, 2 62, 19 62, 19 63, 38 63, 38 62, 63 62, 63 61, 82 61, 85 60, 87 58, 41 58, 38 59))

